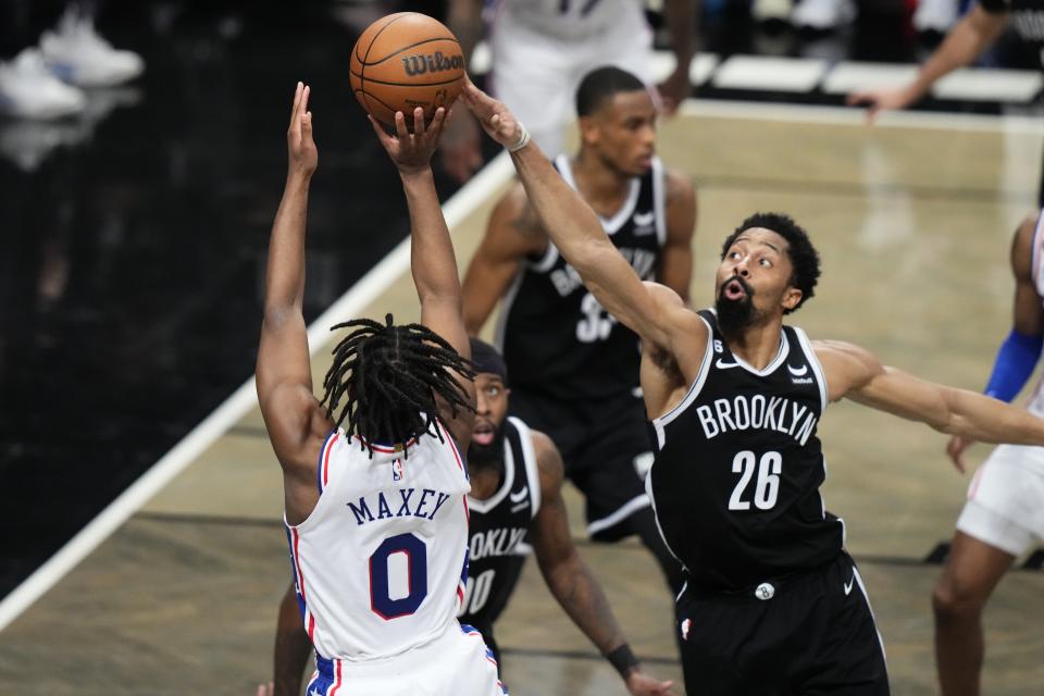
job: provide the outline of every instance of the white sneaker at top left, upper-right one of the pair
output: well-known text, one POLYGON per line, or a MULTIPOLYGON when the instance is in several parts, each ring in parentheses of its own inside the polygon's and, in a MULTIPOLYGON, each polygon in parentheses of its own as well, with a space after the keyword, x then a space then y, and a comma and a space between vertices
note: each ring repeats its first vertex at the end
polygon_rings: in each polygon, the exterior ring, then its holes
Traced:
POLYGON ((80 87, 121 85, 145 71, 140 55, 112 48, 89 17, 73 10, 65 12, 55 30, 40 36, 40 50, 55 75, 80 87))

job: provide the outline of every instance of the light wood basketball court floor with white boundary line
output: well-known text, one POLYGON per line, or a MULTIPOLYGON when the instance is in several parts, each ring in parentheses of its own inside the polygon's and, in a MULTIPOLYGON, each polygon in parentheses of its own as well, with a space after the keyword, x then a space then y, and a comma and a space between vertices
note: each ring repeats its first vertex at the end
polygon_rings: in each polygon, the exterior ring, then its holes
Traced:
MULTIPOLYGON (((720 243, 739 221, 785 211, 823 258, 817 296, 794 323, 979 389, 1010 326, 1008 244, 1034 209, 1042 140, 1044 124, 1017 117, 899 114, 868 127, 855 111, 688 102, 663 124, 659 150, 698 186, 693 302, 710 301, 720 243)), ((499 158, 447 203, 462 268, 510 176, 499 158)), ((312 325, 316 373, 326 326, 387 311, 417 316, 402 246, 312 325)), ((854 403, 832 406, 820 436, 824 497, 845 519, 893 692, 933 694, 940 567, 923 561, 950 536, 969 477, 945 458, 943 435, 854 403)), ((987 451, 977 447, 975 462, 987 451)), ((0 693, 253 693, 271 673, 289 577, 281 495, 248 383, 0 605, 0 693)), ((680 683, 671 599, 654 562, 634 543, 587 543, 572 488, 568 500, 581 552, 635 651, 680 683)), ((985 618, 984 693, 1044 684, 1042 612, 1044 574, 1002 582, 985 618)), ((532 561, 497 637, 513 694, 625 693, 532 561)))

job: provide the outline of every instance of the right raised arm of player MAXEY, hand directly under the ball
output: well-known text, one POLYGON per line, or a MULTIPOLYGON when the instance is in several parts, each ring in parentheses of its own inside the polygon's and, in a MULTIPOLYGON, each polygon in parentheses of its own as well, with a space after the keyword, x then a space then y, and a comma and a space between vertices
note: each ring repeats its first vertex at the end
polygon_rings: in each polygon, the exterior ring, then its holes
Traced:
MULTIPOLYGON (((463 304, 460 278, 457 275, 457 257, 449 239, 449 228, 435 190, 431 160, 446 120, 446 110, 437 109, 432 123, 424 124, 424 110, 418 107, 411 114, 413 132, 406 127, 402 112, 395 114, 394 136, 369 116, 381 145, 399 170, 402 190, 410 210, 410 270, 421 301, 421 323, 446 339, 464 358, 471 357, 471 345, 464 330, 463 304)), ((474 403, 475 389, 470 380, 459 380, 465 394, 474 403)), ((458 409, 446 409, 443 419, 447 422, 458 445, 467 449, 471 442, 471 415, 458 409), (452 411, 452 414, 449 412, 452 411), (459 419, 467 423, 456 423, 459 419)))

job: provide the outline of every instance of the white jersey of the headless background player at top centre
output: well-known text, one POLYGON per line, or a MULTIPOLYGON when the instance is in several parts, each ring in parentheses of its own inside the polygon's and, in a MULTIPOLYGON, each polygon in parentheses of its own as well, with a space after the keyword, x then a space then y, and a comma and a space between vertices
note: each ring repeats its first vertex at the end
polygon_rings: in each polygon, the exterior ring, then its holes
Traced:
POLYGON ((576 40, 599 36, 614 25, 643 30, 646 26, 641 0, 499 0, 498 16, 559 39, 576 40))

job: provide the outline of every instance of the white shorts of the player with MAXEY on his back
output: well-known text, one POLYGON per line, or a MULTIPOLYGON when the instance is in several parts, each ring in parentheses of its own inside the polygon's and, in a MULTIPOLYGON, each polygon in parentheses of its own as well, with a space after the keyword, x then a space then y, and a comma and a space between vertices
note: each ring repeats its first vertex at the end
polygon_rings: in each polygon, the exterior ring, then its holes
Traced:
POLYGON ((394 658, 355 662, 316 656, 306 694, 506 696, 482 635, 457 621, 440 637, 394 658))

